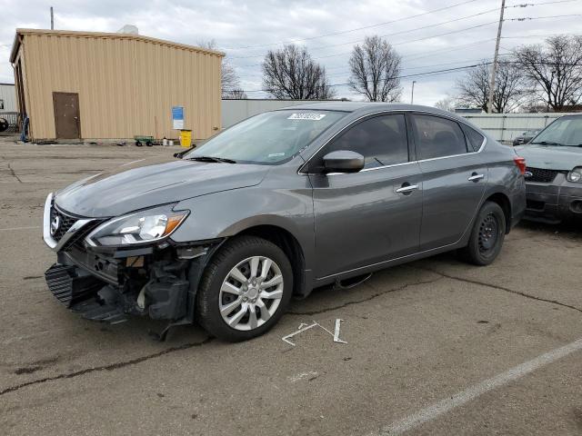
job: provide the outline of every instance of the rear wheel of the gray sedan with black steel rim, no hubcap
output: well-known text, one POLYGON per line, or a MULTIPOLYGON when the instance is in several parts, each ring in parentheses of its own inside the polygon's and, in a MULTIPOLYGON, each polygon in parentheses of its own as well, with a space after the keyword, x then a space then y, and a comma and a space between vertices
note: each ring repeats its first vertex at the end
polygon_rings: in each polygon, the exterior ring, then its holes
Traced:
POLYGON ((506 236, 506 216, 497 203, 486 202, 477 213, 467 247, 459 250, 467 263, 479 266, 496 260, 506 236))

